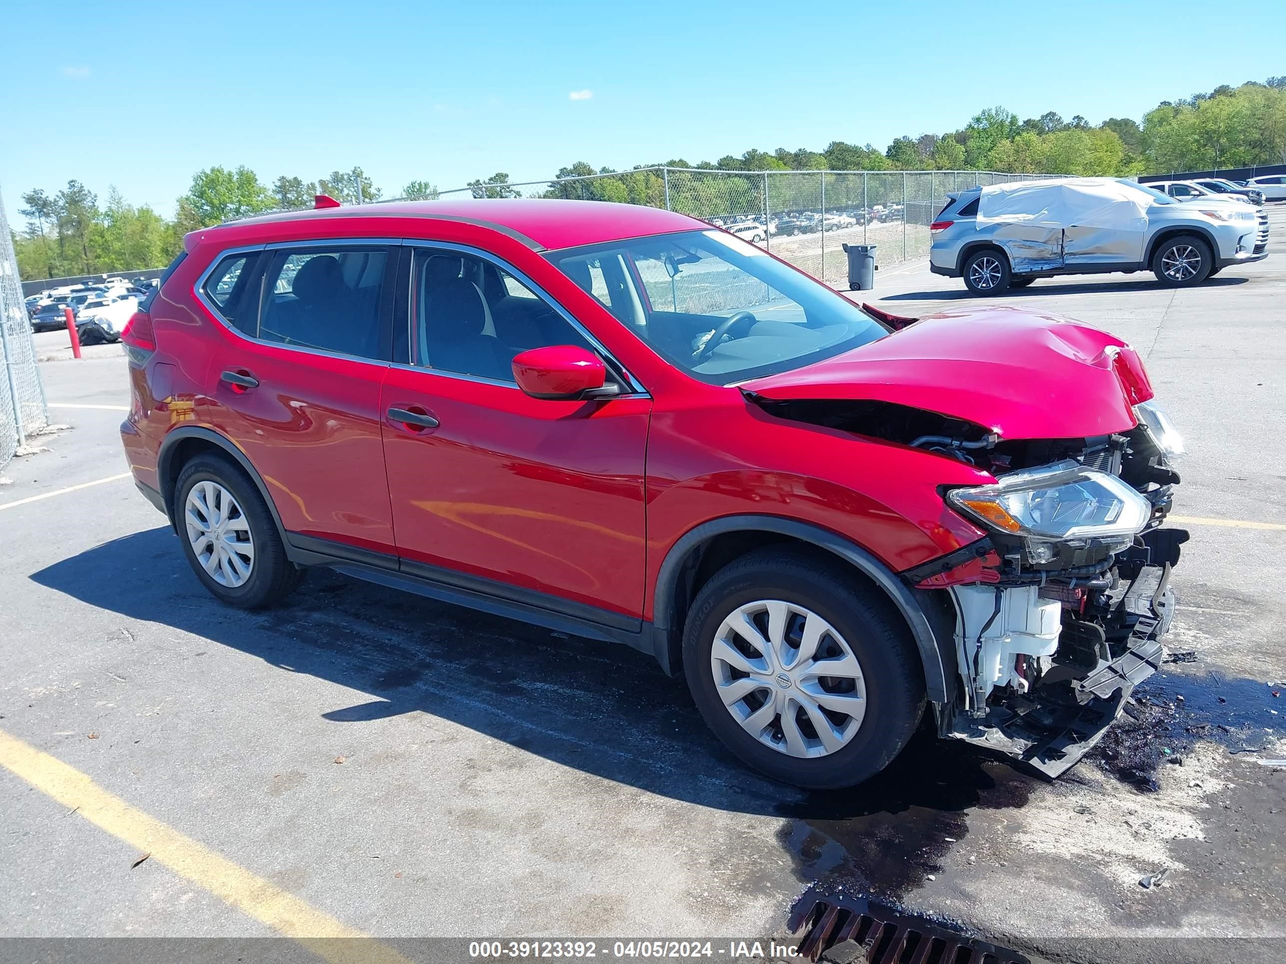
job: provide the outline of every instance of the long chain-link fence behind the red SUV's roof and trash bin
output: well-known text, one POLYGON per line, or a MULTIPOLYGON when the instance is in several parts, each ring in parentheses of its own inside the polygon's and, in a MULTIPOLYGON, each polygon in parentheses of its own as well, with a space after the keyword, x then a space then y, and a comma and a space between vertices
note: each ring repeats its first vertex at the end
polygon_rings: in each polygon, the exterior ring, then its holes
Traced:
POLYGON ((640 167, 521 184, 475 183, 441 198, 571 198, 679 211, 760 244, 831 284, 847 278, 845 244, 877 245, 892 265, 928 254, 946 195, 1052 175, 995 171, 714 171, 640 167))

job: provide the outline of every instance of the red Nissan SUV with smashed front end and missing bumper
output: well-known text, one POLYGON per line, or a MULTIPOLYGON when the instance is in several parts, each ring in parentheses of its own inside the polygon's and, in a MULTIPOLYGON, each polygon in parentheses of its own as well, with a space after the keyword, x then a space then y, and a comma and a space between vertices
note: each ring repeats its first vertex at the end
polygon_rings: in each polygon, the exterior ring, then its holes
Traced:
POLYGON ((123 334, 143 494, 215 596, 307 567, 615 640, 801 787, 940 736, 1055 776, 1160 658, 1182 442, 1067 319, 858 307, 601 202, 189 234, 123 334))

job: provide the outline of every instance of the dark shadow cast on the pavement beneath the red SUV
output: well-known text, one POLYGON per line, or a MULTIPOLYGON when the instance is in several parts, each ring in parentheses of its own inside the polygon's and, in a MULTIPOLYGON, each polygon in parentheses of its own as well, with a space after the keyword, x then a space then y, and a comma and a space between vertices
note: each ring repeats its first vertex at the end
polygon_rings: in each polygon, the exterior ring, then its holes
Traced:
MULTIPOLYGON (((983 751, 921 733, 862 787, 810 793, 777 784, 724 751, 683 681, 643 653, 328 569, 311 572, 275 608, 233 609, 206 594, 165 526, 31 578, 258 657, 269 676, 310 674, 370 695, 352 706, 319 704, 318 715, 336 725, 423 712, 651 793, 781 816, 779 842, 801 879, 842 879, 889 898, 918 887, 968 833, 966 810, 1022 806, 1037 783, 983 751)), ((271 680, 264 685, 270 692, 271 680)))

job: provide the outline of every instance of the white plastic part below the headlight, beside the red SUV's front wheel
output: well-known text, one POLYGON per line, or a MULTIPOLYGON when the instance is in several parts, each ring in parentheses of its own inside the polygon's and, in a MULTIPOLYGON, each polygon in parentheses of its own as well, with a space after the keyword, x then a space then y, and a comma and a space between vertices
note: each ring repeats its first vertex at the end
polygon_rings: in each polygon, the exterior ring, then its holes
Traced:
POLYGON ((957 611, 955 654, 976 706, 994 686, 1008 684, 1025 693, 1028 681, 1015 670, 1015 657, 1055 654, 1062 631, 1062 604, 1042 599, 1039 586, 954 586, 952 595, 957 611))

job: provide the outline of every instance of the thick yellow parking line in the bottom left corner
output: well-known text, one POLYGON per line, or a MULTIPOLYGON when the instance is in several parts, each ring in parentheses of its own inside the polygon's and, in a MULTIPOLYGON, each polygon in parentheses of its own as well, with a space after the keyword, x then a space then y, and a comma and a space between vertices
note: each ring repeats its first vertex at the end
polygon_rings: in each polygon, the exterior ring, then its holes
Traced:
POLYGON ((125 841, 140 856, 150 855, 149 862, 163 864, 332 964, 410 964, 392 947, 131 807, 80 770, 4 730, 0 730, 0 766, 68 810, 75 810, 99 829, 125 841))

